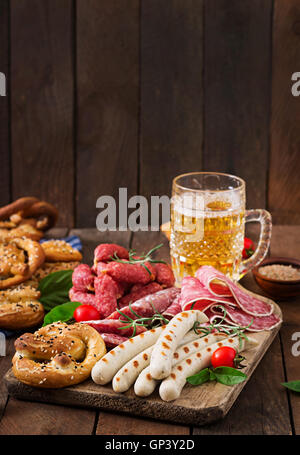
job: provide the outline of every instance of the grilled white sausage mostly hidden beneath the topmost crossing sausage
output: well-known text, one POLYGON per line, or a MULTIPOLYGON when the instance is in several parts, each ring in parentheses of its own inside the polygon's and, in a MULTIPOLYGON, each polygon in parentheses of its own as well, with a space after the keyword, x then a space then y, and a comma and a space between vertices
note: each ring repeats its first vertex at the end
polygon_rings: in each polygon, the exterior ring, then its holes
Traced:
MULTIPOLYGON (((194 332, 195 334, 195 332, 194 332)), ((189 335, 190 333, 187 334, 188 336, 184 337, 185 339, 191 338, 189 335)), ((196 335, 196 334, 195 334, 196 335)), ((189 343, 184 344, 183 346, 179 347, 176 349, 176 351, 173 354, 173 360, 172 360, 172 366, 176 365, 177 363, 181 362, 183 359, 191 355, 192 353, 199 351, 207 346, 210 346, 211 344, 215 343, 216 341, 223 340, 224 338, 227 338, 228 335, 224 333, 211 333, 207 336, 204 336, 202 338, 191 341, 189 343)), ((150 367, 145 368, 137 378, 135 384, 134 384, 134 392, 137 396, 139 397, 147 397, 151 395, 152 392, 154 392, 159 380, 153 379, 150 373, 150 367)))

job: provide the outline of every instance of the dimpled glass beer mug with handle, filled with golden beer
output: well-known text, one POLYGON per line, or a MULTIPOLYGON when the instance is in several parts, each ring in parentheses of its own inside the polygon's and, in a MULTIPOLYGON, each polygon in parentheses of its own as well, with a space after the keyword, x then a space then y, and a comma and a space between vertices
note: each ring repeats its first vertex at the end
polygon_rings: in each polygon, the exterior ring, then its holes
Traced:
POLYGON ((171 260, 177 284, 202 265, 238 281, 266 256, 272 219, 266 210, 245 210, 245 182, 216 172, 182 174, 173 180, 171 260), (261 224, 255 253, 242 260, 245 222, 261 224))

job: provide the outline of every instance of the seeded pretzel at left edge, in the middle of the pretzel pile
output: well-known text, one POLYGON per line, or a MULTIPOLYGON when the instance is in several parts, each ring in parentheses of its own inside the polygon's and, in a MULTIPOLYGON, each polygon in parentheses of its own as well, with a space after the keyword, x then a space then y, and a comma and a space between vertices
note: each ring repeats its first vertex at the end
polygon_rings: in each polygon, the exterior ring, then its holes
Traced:
POLYGON ((44 250, 33 240, 14 239, 0 243, 0 289, 28 280, 44 260, 44 250))

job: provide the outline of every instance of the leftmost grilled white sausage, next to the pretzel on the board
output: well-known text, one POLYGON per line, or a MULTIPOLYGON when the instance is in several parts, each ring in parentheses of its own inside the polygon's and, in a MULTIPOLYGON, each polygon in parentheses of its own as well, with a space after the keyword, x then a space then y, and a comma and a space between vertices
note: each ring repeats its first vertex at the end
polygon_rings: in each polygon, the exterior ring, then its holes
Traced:
POLYGON ((152 346, 158 339, 165 326, 148 330, 129 338, 125 343, 119 344, 109 351, 94 365, 92 379, 96 384, 107 384, 126 362, 141 351, 152 346))

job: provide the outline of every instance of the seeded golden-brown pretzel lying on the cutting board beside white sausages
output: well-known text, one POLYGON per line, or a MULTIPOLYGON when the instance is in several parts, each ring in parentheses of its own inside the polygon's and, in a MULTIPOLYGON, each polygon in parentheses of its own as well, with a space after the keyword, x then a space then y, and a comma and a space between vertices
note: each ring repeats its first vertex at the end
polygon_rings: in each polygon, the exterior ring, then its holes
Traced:
POLYGON ((90 376, 106 353, 101 335, 87 324, 62 322, 25 333, 15 341, 13 373, 19 381, 42 388, 78 384, 90 376))

